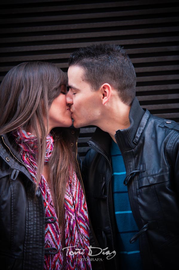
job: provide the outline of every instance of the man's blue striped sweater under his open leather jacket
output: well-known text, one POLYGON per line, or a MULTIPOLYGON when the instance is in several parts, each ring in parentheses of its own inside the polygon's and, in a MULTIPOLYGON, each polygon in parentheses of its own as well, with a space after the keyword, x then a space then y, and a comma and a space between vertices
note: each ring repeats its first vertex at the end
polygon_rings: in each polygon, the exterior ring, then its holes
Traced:
POLYGON ((131 211, 127 187, 123 181, 126 177, 126 169, 122 154, 117 144, 111 143, 112 161, 112 188, 114 197, 115 217, 118 228, 118 243, 120 256, 120 270, 141 270, 142 262, 139 250, 139 241, 130 244, 130 238, 138 232, 137 224, 131 211))

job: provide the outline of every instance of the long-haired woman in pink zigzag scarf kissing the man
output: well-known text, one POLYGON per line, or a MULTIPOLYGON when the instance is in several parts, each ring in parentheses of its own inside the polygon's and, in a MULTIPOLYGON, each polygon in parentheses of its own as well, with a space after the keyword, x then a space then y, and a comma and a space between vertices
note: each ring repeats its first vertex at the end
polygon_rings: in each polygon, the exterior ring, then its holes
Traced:
POLYGON ((72 149, 76 131, 67 129, 72 120, 66 84, 65 73, 45 62, 19 64, 1 82, 4 270, 91 269, 88 213, 72 149))

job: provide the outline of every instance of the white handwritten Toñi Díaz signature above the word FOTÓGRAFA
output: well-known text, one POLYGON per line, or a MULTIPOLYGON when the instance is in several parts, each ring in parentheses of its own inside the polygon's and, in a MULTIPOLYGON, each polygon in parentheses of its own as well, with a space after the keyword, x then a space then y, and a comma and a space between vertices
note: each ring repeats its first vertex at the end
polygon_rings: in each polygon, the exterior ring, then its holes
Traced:
MULTIPOLYGON (((64 248, 62 248, 62 250, 65 250, 65 249, 66 249, 66 256, 68 256, 68 255, 73 256, 73 255, 77 255, 77 254, 84 255, 84 251, 85 251, 85 249, 77 248, 77 245, 76 246, 70 246, 70 247, 64 247, 64 248), (75 248, 74 251, 72 251, 72 250, 70 250, 71 247, 76 247, 76 248, 75 248)), ((116 251, 113 250, 112 252, 110 252, 108 250, 108 247, 102 249, 100 247, 89 246, 88 249, 89 249, 88 255, 90 257, 92 257, 92 256, 98 256, 98 255, 102 254, 102 255, 106 255, 106 259, 107 260, 110 260, 110 259, 114 258, 114 256, 116 255, 116 251)))

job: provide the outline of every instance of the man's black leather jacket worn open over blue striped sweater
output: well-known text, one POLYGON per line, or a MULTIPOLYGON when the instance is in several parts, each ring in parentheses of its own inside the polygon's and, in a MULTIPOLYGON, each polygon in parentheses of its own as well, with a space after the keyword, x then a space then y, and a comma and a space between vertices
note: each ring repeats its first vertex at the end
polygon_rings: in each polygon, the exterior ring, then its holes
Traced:
MULTIPOLYGON (((179 125, 144 111, 134 99, 130 127, 115 139, 126 167, 125 183, 139 233, 143 269, 178 269, 179 254, 179 125)), ((95 238, 102 249, 118 251, 112 196, 111 137, 99 128, 88 142, 84 185, 95 238)), ((92 245, 95 240, 91 234, 92 245)), ((118 255, 103 256, 105 269, 120 269, 118 255)), ((94 270, 104 269, 95 262, 94 270)))

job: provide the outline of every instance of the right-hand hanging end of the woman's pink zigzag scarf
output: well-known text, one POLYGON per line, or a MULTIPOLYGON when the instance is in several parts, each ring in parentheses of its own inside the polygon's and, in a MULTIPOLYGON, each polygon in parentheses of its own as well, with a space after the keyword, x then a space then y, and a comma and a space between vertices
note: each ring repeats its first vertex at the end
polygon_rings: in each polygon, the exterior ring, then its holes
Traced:
POLYGON ((85 260, 89 258, 88 212, 83 190, 75 172, 68 180, 65 193, 65 245, 71 247, 66 256, 67 269, 91 269, 90 261, 85 260), (79 249, 80 254, 74 254, 74 248, 79 249))

